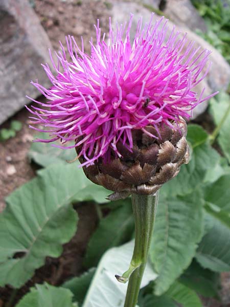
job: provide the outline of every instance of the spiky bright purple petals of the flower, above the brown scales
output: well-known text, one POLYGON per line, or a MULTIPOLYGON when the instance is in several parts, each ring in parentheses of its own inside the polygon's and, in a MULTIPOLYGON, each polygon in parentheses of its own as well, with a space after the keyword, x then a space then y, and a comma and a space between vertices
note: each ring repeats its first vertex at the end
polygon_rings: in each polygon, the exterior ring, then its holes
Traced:
MULTIPOLYGON (((133 42, 128 25, 117 27, 115 32, 109 25, 108 41, 101 38, 99 21, 96 27, 97 42, 91 45, 91 55, 78 47, 74 37, 66 37, 69 62, 63 46, 56 53, 58 64, 52 59, 55 75, 48 64, 43 65, 52 82, 47 90, 32 82, 48 99, 47 103, 36 100, 40 107, 33 106, 30 112, 32 124, 49 127, 50 140, 58 139, 64 144, 75 141, 79 156, 85 160, 82 165, 94 164, 99 158, 109 161, 121 157, 118 144, 122 143, 132 151, 132 130, 142 129, 152 136, 145 127, 159 125, 172 127, 180 117, 191 117, 192 109, 212 97, 197 97, 193 91, 208 70, 201 75, 210 51, 199 52, 190 42, 186 52, 186 35, 179 38, 173 29, 167 42, 167 20, 162 17, 155 24, 153 15, 148 24, 137 24, 133 42), (43 108, 45 107, 45 108, 43 108)), ((35 128, 40 131, 40 129, 35 128)), ((44 130, 42 130, 44 131, 44 130)), ((60 146, 63 148, 63 146, 60 146)))

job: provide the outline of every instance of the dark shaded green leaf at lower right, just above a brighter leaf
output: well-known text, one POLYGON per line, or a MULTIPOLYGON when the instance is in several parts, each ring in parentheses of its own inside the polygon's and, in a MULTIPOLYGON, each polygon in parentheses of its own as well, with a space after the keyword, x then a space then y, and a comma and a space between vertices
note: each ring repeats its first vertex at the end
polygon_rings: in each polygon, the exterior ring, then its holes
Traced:
POLYGON ((202 268, 195 259, 179 281, 204 297, 219 298, 220 274, 202 268))

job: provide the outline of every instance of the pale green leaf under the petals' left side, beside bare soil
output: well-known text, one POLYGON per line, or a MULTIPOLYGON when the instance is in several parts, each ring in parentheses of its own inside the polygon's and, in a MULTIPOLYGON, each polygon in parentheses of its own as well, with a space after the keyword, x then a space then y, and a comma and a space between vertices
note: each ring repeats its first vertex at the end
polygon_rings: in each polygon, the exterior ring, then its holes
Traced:
MULTIPOLYGON (((36 139, 49 139, 49 134, 41 132, 35 136, 36 139)), ((54 144, 60 145, 60 143, 55 142, 54 144)), ((74 145, 74 143, 69 144, 74 145)), ((74 148, 71 149, 61 149, 52 146, 51 143, 32 143, 28 157, 35 163, 42 167, 47 167, 50 164, 55 163, 67 163, 66 161, 71 161, 77 156, 74 148)), ((76 164, 74 164, 76 166, 76 164)))

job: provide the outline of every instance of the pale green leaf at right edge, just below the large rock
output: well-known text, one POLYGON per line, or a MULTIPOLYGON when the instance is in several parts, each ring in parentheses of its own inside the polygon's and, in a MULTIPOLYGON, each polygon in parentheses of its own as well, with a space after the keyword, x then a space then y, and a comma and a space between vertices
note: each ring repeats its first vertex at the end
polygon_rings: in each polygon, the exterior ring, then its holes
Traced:
POLYGON ((213 115, 216 125, 220 123, 224 115, 226 116, 225 121, 219 131, 217 140, 221 149, 223 150, 225 157, 230 163, 230 112, 226 114, 226 112, 229 111, 230 105, 229 95, 224 92, 220 93, 216 99, 211 99, 210 105, 210 111, 213 115))

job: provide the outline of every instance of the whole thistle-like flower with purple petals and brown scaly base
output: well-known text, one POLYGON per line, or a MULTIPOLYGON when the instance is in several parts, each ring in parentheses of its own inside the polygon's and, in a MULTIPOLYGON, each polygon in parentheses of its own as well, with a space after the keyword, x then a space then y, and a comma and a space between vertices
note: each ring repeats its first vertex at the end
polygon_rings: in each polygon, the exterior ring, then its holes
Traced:
MULTIPOLYGON (((132 16, 128 25, 91 41, 91 54, 79 48, 74 37, 66 38, 71 62, 63 46, 52 56, 56 71, 43 65, 53 86, 47 90, 32 84, 48 99, 35 101, 30 112, 32 124, 49 127, 53 142, 74 141, 86 176, 115 191, 111 199, 129 193, 152 194, 173 178, 182 163, 188 162, 186 122, 192 109, 212 97, 193 91, 208 73, 210 51, 199 52, 186 35, 173 29, 167 42, 167 20, 137 24, 130 42, 132 16), (205 68, 205 72, 202 73, 205 68)), ((38 128, 35 128, 39 130, 38 128)), ((44 130, 43 130, 44 131, 44 130)), ((62 146, 60 146, 62 147, 62 146)))

